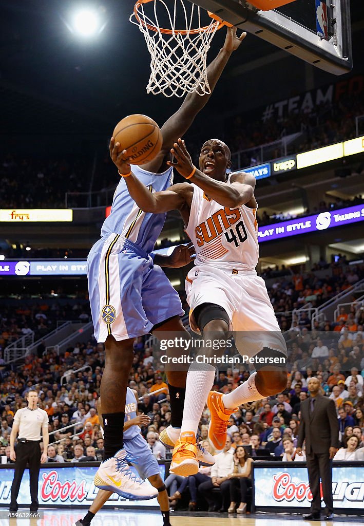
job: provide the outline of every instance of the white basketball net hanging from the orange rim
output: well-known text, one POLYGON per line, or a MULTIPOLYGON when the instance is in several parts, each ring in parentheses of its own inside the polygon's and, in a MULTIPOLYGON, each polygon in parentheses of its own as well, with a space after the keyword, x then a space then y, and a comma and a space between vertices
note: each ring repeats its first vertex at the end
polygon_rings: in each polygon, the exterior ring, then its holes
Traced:
POLYGON ((211 93, 206 57, 211 40, 221 24, 211 18, 207 26, 201 25, 200 8, 194 4, 188 3, 190 13, 187 13, 183 0, 166 2, 174 3, 171 13, 163 0, 149 0, 146 4, 137 3, 130 16, 130 22, 144 34, 151 56, 147 93, 163 93, 166 97, 183 97, 195 91, 201 96, 211 93), (144 6, 148 6, 149 2, 154 4, 154 21, 144 12, 144 6), (167 30, 160 28, 158 14, 159 19, 168 20, 170 27, 167 30), (184 18, 185 28, 176 28, 176 17, 179 21, 184 18))

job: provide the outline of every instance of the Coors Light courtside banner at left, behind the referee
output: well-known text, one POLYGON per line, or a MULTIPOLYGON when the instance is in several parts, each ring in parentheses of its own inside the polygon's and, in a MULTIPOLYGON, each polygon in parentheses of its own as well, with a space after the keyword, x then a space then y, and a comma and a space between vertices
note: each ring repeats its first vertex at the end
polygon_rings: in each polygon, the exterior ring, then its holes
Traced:
MULTIPOLYGON (((97 495, 98 488, 94 485, 94 477, 97 467, 67 466, 57 469, 41 468, 38 481, 39 505, 65 506, 74 505, 89 506, 97 495)), ((165 478, 165 466, 159 464, 162 480, 165 478)), ((14 469, 0 469, 0 507, 8 507, 10 504, 10 492, 14 478, 14 469)), ((149 481, 146 480, 149 484, 149 481)), ((29 492, 29 470, 24 471, 22 484, 17 500, 19 505, 30 504, 31 494, 29 492)), ((113 493, 104 506, 143 506, 158 507, 157 499, 145 501, 131 501, 119 497, 113 493)))

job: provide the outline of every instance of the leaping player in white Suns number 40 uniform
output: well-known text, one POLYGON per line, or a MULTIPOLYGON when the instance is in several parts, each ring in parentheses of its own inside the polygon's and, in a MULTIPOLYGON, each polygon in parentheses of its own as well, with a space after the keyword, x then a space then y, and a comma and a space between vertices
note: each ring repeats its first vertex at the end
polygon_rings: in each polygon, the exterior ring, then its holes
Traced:
MULTIPOLYGON (((175 161, 169 161, 169 166, 193 184, 177 184, 151 195, 132 176, 129 193, 143 210, 180 211, 196 249, 195 267, 186 280, 191 327, 205 341, 226 341, 233 330, 239 352, 254 357, 256 369, 244 384, 223 395, 210 391, 215 366, 197 361, 190 365, 181 433, 170 469, 186 475, 198 470, 195 435, 206 399, 211 413, 209 438, 222 449, 228 419, 237 406, 285 389, 287 349, 264 280, 255 270, 259 250, 254 176, 228 174, 230 150, 218 139, 206 141, 201 148, 199 170, 183 140, 178 139, 171 153, 175 161)), ((120 158, 120 168, 128 166, 120 158)), ((205 346, 200 354, 214 358, 217 352, 209 349, 205 346)))

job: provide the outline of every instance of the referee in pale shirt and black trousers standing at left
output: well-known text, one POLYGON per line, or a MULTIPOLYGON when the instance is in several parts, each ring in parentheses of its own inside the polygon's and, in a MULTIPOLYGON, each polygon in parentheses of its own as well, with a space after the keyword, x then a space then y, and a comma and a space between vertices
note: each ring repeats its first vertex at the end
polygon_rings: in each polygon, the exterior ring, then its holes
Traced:
POLYGON ((28 463, 31 487, 31 511, 38 510, 38 477, 41 462, 47 461, 48 448, 48 414, 37 407, 38 393, 35 390, 27 393, 28 406, 18 409, 14 416, 13 429, 10 435, 10 458, 15 461, 14 480, 11 491, 10 511, 18 510, 18 498, 23 473, 28 463), (41 429, 43 434, 43 453, 41 455, 41 429), (19 438, 14 448, 15 439, 19 438))

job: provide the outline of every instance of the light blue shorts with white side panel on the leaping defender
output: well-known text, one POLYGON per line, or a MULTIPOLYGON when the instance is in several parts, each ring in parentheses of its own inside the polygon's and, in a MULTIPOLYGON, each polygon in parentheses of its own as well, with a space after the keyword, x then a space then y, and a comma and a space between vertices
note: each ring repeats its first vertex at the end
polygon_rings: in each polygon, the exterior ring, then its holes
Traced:
POLYGON ((182 316, 181 301, 163 270, 119 234, 100 238, 87 257, 88 294, 98 342, 147 334, 157 323, 182 316))

